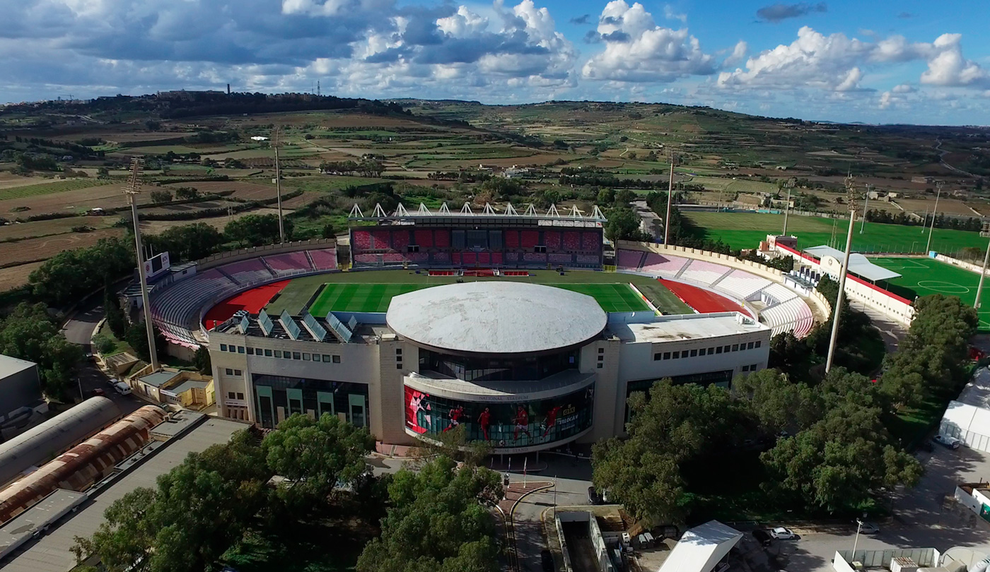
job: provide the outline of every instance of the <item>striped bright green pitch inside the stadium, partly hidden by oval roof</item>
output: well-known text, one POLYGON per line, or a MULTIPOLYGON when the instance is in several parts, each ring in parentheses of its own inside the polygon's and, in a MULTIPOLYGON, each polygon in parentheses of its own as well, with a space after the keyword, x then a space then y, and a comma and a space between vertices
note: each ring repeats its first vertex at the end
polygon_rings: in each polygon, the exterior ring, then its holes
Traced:
MULTIPOLYGON (((425 287, 427 284, 334 284, 324 286, 323 291, 310 305, 314 316, 338 312, 384 312, 392 297, 425 287)), ((550 286, 550 285, 547 285, 550 286)), ((564 288, 587 294, 606 312, 649 311, 649 306, 628 284, 561 284, 564 288)))

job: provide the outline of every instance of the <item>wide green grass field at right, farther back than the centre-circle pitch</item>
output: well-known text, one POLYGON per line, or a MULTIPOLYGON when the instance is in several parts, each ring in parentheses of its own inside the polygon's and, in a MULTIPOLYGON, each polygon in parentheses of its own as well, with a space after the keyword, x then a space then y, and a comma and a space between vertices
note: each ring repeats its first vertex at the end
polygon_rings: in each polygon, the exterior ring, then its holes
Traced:
MULTIPOLYGON (((779 233, 783 228, 783 214, 759 212, 683 212, 704 238, 722 240, 733 248, 754 248, 768 233, 779 233)), ((863 232, 857 220, 852 233, 852 247, 856 252, 917 252, 924 253, 928 231, 921 226, 867 222, 863 232)), ((848 220, 795 216, 787 219, 787 232, 798 237, 800 248, 831 244, 842 248, 848 220)), ((932 250, 946 254, 967 246, 986 246, 979 232, 936 228, 932 235, 932 250)))

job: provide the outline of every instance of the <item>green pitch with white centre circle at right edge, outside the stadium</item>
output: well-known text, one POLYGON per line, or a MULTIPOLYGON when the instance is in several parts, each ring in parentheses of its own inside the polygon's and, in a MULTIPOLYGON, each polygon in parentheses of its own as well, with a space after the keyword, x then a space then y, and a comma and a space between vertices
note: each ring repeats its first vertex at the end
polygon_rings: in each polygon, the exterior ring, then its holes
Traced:
MULTIPOLYGON (((976 301, 976 288, 980 275, 968 270, 939 262, 932 258, 871 258, 873 263, 892 270, 901 278, 888 282, 890 291, 909 300, 915 296, 941 293, 959 296, 963 302, 972 305, 976 301)), ((983 285, 980 331, 990 332, 990 281, 983 285)))

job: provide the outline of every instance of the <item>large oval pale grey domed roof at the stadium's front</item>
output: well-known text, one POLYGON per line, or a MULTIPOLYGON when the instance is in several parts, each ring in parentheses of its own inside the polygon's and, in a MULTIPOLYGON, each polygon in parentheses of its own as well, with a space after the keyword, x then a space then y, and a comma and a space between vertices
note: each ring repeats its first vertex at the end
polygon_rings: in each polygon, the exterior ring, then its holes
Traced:
POLYGON ((584 344, 605 329, 595 298, 552 286, 476 282, 392 298, 388 326, 410 341, 466 354, 525 354, 584 344))

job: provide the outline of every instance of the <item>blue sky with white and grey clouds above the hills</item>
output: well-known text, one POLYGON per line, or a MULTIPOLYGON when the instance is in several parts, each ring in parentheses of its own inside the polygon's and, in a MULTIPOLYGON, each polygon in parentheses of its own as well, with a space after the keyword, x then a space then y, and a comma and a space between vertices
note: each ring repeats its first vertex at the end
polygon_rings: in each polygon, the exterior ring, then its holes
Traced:
POLYGON ((990 123, 990 2, 0 0, 0 102, 172 89, 990 123))

